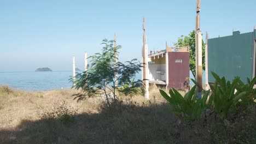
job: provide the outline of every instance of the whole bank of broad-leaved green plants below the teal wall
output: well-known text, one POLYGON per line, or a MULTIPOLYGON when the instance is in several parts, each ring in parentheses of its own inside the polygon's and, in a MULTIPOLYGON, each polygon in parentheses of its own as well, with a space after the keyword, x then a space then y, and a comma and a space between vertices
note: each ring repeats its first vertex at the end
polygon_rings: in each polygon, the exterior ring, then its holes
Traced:
POLYGON ((196 85, 184 97, 174 88, 170 89, 170 96, 161 89, 160 93, 173 106, 173 112, 177 116, 185 114, 185 117, 192 119, 200 118, 201 113, 207 109, 212 109, 216 115, 224 119, 232 110, 256 104, 256 89, 253 89, 256 77, 253 80, 247 79, 247 84, 244 84, 239 77, 230 82, 226 81, 225 77, 220 78, 216 73, 212 72, 212 75, 216 79, 214 84, 210 85, 212 93, 210 94, 210 90, 206 91, 202 98, 196 98, 197 84, 193 79, 196 85))

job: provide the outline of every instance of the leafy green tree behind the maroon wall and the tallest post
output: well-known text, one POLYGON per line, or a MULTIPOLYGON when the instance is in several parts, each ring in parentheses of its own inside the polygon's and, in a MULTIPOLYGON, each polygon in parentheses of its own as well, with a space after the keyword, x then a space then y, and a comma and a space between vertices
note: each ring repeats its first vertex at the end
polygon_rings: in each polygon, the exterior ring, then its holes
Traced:
MULTIPOLYGON (((181 37, 178 38, 177 43, 173 43, 173 44, 176 47, 189 46, 189 68, 195 77, 195 74, 196 74, 195 31, 190 32, 188 36, 181 35, 181 37)), ((203 40, 202 40, 202 65, 203 65, 203 69, 205 69, 205 43, 203 42, 203 40)))

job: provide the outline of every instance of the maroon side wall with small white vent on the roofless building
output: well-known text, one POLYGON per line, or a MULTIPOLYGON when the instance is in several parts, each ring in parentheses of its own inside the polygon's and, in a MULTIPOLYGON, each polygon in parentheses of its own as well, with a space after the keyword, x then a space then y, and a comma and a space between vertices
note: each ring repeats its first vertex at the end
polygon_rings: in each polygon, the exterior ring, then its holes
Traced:
POLYGON ((189 77, 189 52, 168 52, 168 88, 186 89, 189 77))

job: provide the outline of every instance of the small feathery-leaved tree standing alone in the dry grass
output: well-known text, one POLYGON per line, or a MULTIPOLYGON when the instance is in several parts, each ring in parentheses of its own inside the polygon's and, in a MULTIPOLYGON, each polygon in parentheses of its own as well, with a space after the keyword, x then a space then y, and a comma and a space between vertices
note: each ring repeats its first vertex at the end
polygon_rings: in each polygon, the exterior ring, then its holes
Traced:
MULTIPOLYGON (((91 67, 88 71, 75 76, 75 88, 81 89, 82 92, 75 94, 75 99, 78 101, 86 97, 92 97, 96 94, 104 94, 106 96, 107 105, 116 103, 117 101, 117 87, 130 83, 131 79, 141 70, 141 63, 137 59, 132 59, 124 63, 118 62, 117 69, 115 68, 115 47, 113 47, 113 40, 102 41, 103 49, 101 53, 95 53, 91 56, 91 67), (115 77, 115 73, 118 77, 115 77), (116 85, 118 81, 118 86, 116 85), (109 97, 109 93, 113 94, 113 98, 109 97)), ((117 50, 121 48, 117 46, 117 50)), ((117 52, 118 53, 118 52, 117 52)), ((72 80, 71 80, 72 81, 72 80)), ((135 82, 137 87, 141 86, 141 80, 135 82)))

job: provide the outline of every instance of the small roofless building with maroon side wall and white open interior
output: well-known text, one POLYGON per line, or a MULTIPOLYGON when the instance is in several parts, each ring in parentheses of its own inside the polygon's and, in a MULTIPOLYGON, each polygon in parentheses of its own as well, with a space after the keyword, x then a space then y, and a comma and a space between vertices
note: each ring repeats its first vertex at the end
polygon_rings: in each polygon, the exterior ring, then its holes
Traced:
POLYGON ((148 80, 150 85, 166 88, 189 88, 189 47, 168 47, 150 51, 148 55, 148 80), (174 50, 174 51, 173 51, 174 50))

